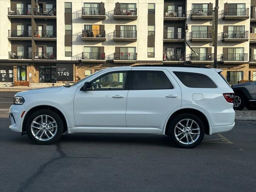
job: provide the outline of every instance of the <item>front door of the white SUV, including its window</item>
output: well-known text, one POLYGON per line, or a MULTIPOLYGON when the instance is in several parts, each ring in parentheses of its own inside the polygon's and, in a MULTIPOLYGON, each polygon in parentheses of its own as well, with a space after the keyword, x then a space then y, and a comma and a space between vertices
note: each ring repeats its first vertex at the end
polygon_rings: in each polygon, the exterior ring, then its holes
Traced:
POLYGON ((77 127, 126 127, 128 71, 106 72, 93 80, 92 90, 78 88, 74 97, 77 127))

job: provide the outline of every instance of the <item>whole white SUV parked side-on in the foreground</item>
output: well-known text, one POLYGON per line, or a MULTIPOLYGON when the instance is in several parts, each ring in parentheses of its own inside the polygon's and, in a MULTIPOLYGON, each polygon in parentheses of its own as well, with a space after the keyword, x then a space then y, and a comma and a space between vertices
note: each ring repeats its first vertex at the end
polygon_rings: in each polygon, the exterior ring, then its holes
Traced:
POLYGON ((180 147, 231 130, 234 92, 206 67, 141 65, 98 71, 71 86, 18 92, 10 129, 36 144, 68 133, 168 135, 180 147))

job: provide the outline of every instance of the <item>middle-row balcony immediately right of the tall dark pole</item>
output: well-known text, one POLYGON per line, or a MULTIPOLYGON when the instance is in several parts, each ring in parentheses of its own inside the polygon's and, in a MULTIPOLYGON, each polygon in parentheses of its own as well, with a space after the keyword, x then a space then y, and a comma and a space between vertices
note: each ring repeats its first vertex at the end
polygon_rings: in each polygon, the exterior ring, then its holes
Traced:
POLYGON ((224 31, 221 34, 222 42, 246 42, 248 31, 224 31))

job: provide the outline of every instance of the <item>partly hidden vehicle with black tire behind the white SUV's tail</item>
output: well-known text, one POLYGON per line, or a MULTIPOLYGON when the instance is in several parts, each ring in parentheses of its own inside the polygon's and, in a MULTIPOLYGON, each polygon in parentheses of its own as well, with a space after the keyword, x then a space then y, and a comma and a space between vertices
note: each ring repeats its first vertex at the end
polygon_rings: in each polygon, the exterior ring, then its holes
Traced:
POLYGON ((256 81, 232 85, 235 92, 234 109, 256 110, 256 81))

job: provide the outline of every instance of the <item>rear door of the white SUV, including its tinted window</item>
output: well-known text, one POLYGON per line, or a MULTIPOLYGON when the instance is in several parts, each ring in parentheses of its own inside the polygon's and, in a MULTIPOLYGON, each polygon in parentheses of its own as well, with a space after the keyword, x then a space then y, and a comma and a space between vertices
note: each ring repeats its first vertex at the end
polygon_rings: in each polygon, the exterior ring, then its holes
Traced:
POLYGON ((165 69, 132 69, 127 98, 127 127, 164 128, 181 106, 181 90, 165 69))

